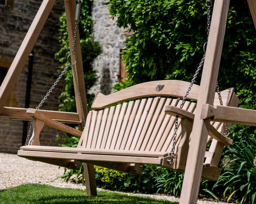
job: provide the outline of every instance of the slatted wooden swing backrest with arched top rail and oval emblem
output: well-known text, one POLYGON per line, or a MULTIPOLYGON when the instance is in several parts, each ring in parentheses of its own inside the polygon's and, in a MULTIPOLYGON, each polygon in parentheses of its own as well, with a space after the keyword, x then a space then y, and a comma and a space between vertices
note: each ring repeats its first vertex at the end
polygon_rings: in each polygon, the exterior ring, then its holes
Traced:
MULTIPOLYGON (((92 103, 92 111, 87 115, 78 147, 169 154, 172 148, 175 117, 165 114, 165 107, 179 107, 181 100, 177 97, 183 97, 188 85, 185 81, 162 80, 134 85, 110 95, 98 93, 92 103), (136 98, 143 99, 124 102, 136 98), (124 103, 118 104, 120 102, 124 103), (114 104, 117 105, 112 106, 114 104)), ((199 86, 193 85, 187 99, 197 100, 198 93, 199 86)), ((224 106, 238 105, 234 88, 222 91, 221 96, 224 106)), ((214 105, 219 105, 217 93, 214 105)), ((194 113, 196 103, 186 101, 183 109, 194 113)), ((223 132, 222 123, 211 124, 216 130, 223 132)), ((178 125, 177 143, 181 136, 180 119, 178 125)), ((217 146, 216 143, 215 149, 217 146)), ((213 151, 215 149, 212 147, 213 151)), ((213 158, 209 159, 211 163, 213 158)))

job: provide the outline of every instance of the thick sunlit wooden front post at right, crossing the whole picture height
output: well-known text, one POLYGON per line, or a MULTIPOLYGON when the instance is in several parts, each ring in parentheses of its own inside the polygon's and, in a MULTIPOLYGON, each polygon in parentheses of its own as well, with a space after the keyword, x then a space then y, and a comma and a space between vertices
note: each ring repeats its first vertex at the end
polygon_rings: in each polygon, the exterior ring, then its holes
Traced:
POLYGON ((196 204, 210 119, 201 119, 203 104, 213 105, 230 0, 215 0, 206 58, 188 151, 180 204, 196 204))

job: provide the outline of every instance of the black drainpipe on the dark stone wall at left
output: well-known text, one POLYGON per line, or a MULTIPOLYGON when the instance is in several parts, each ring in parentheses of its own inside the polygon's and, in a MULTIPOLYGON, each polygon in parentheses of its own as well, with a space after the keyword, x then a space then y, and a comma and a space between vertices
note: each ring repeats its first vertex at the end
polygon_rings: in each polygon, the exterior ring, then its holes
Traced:
MULTIPOLYGON (((25 108, 29 108, 30 104, 30 91, 31 91, 31 81, 32 81, 32 69, 33 69, 33 58, 34 58, 34 51, 30 52, 28 57, 28 74, 27 74, 27 89, 26 89, 26 99, 25 99, 25 108)), ((22 146, 25 145, 26 138, 27 138, 27 125, 28 121, 23 121, 23 133, 22 133, 22 146)))

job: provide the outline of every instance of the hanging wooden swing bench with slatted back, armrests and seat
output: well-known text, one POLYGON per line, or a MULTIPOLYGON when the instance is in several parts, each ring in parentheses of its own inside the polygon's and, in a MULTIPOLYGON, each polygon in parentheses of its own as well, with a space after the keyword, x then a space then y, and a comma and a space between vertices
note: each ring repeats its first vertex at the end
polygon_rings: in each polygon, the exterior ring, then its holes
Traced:
MULTIPOLYGON (((39 111, 28 109, 28 115, 35 117, 36 122, 30 145, 22 146, 18 156, 75 169, 80 168, 82 162, 86 162, 133 174, 139 174, 143 164, 184 171, 196 103, 186 101, 180 109, 181 100, 170 97, 182 97, 188 85, 185 81, 177 80, 151 81, 107 96, 98 93, 82 133, 47 118, 39 111), (143 98, 150 96, 155 97, 143 98), (124 102, 136 98, 143 99, 124 102), (117 104, 120 102, 124 103, 117 104), (113 104, 117 105, 112 106, 113 104), (176 115, 180 119, 175 163, 169 164, 167 160, 171 158, 176 115), (44 123, 81 136, 77 148, 39 146, 39 132, 44 123), (41 124, 40 128, 36 124, 41 124), (35 142, 36 140, 38 141, 35 142)), ((197 100, 198 92, 199 86, 194 85, 188 99, 197 100)), ((238 105, 233 88, 222 91, 221 95, 224 105, 238 105)), ((217 93, 214 104, 219 104, 217 93)), ((218 179, 218 163, 223 147, 233 142, 222 134, 223 131, 222 123, 211 122, 208 143, 212 140, 212 144, 209 151, 205 152, 202 173, 205 179, 218 179)))

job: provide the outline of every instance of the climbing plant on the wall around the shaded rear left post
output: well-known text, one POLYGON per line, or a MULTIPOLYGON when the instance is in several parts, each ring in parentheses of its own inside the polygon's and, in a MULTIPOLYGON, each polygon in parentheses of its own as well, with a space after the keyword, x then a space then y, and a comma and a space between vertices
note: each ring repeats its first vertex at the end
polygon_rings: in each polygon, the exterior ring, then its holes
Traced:
MULTIPOLYGON (((102 51, 100 44, 91 39, 91 2, 92 0, 81 0, 81 19, 79 21, 80 44, 86 90, 89 90, 90 87, 96 83, 96 72, 92 68, 92 63, 102 51)), ((59 21, 59 42, 61 44, 61 49, 55 53, 55 60, 63 63, 63 69, 66 65, 66 58, 69 55, 69 41, 65 13, 63 13, 59 21)), ((75 112, 76 103, 71 68, 69 68, 65 73, 65 82, 65 90, 59 96, 59 109, 60 111, 75 112)), ((87 94, 87 103, 89 108, 93 99, 94 96, 87 94)))

